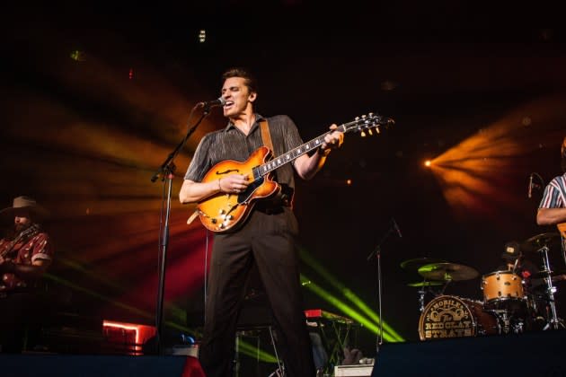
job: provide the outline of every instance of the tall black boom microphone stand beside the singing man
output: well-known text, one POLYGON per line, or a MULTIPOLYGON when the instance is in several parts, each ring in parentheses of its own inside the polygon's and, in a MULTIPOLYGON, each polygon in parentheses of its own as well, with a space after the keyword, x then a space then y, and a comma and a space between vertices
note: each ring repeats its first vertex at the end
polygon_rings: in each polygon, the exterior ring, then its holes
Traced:
MULTIPOLYGON (((199 105, 195 106, 196 109, 199 105)), ((192 111, 190 114, 192 115, 192 111)), ((173 163, 174 158, 177 156, 179 151, 187 140, 189 139, 190 135, 199 127, 200 122, 204 119, 208 113, 210 112, 210 107, 205 106, 203 110, 202 116, 199 118, 197 123, 190 127, 187 135, 181 140, 181 143, 173 149, 172 153, 169 153, 167 158, 165 159, 164 163, 161 164, 159 169, 155 171, 155 174, 152 176, 151 181, 155 183, 155 181, 161 177, 161 180, 164 181, 164 190, 167 190, 167 198, 164 205, 162 205, 161 209, 161 219, 163 219, 164 213, 164 206, 165 206, 165 222, 159 222, 159 226, 161 228, 162 224, 163 229, 160 229, 159 232, 159 239, 160 239, 160 255, 157 264, 157 273, 159 275, 159 285, 157 288, 157 303, 155 309, 155 353, 157 355, 164 355, 164 346, 162 345, 163 340, 163 317, 164 317, 164 289, 165 289, 165 261, 167 259, 167 249, 169 247, 169 218, 171 215, 171 197, 172 197, 172 180, 174 178, 174 171, 176 169, 175 164, 173 163)), ((189 119, 191 118, 189 116, 189 119)))

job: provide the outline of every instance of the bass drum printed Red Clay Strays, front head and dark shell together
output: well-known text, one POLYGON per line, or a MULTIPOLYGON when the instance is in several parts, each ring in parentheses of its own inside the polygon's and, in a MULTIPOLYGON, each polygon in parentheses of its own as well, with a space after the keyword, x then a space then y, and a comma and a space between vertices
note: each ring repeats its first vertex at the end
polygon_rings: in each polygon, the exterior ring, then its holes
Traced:
POLYGON ((497 317, 483 309, 483 302, 442 295, 420 314, 420 340, 464 338, 500 333, 497 317))

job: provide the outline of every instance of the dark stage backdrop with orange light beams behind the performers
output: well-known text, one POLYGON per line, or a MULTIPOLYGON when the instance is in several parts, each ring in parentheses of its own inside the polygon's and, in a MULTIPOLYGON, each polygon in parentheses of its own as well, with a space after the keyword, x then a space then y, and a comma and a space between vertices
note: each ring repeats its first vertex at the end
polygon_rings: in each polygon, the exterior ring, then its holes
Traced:
MULTIPOLYGON (((298 180, 295 208, 302 250, 376 311, 367 256, 382 241, 383 316, 405 340, 418 339, 418 288, 407 284, 421 277, 402 261, 473 267, 478 277, 446 293, 481 300, 481 276, 500 265, 506 242, 554 232, 535 224, 542 190, 527 197, 529 174, 544 186, 561 173, 566 135, 565 34, 552 4, 4 7, 0 197, 49 207, 51 277, 85 315, 152 323, 165 182, 150 179, 230 66, 249 67, 257 110, 289 115, 305 140, 371 111, 394 118, 379 136, 348 135, 314 180, 298 180), (424 168, 457 147, 446 167, 464 179, 424 168), (402 238, 385 238, 392 218, 402 238)), ((212 110, 175 159, 165 320, 181 328, 194 325, 187 307, 199 309, 207 233, 185 224, 191 207, 177 194, 199 139, 225 124, 212 110)), ((553 265, 566 268, 559 253, 551 250, 553 265)), ((313 267, 304 271, 347 302, 313 267)), ((308 286, 305 308, 344 315, 308 286)), ((367 355, 374 343, 362 329, 367 355)))

